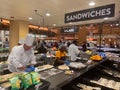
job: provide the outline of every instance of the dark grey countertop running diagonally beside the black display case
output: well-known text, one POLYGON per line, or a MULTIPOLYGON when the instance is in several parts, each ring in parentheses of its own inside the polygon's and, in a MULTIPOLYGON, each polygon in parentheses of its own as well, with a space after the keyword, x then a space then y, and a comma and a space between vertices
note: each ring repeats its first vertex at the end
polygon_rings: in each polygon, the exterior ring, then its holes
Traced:
POLYGON ((60 87, 64 86, 65 84, 69 83, 70 81, 74 80, 75 78, 79 77, 80 75, 84 74, 88 70, 94 68, 104 61, 106 60, 94 62, 93 64, 88 65, 86 68, 83 68, 81 70, 75 70, 74 74, 72 75, 66 75, 64 72, 61 72, 57 75, 45 79, 46 81, 50 82, 49 90, 61 90, 60 87))

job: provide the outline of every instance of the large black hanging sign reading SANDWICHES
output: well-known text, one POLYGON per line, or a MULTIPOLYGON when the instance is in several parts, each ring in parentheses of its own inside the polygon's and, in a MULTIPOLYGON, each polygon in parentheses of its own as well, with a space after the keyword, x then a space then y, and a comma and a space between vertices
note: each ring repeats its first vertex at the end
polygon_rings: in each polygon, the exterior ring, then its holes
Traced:
POLYGON ((115 4, 65 14, 65 23, 114 17, 115 4))

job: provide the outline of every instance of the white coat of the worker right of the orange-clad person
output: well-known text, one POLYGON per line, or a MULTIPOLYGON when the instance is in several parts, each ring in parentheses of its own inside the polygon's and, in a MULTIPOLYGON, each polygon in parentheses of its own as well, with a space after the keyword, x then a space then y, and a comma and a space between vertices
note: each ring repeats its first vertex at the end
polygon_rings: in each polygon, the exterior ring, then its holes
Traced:
POLYGON ((75 61, 77 55, 80 53, 78 47, 75 44, 71 44, 68 48, 68 55, 71 57, 71 61, 75 61))

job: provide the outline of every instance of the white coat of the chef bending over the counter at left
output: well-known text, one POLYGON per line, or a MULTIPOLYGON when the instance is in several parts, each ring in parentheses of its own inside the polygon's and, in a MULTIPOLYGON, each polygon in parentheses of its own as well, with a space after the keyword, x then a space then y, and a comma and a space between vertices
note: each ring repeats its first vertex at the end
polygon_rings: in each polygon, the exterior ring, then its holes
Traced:
POLYGON ((15 46, 8 57, 8 68, 11 72, 21 72, 19 67, 36 64, 33 49, 25 51, 23 45, 15 46))

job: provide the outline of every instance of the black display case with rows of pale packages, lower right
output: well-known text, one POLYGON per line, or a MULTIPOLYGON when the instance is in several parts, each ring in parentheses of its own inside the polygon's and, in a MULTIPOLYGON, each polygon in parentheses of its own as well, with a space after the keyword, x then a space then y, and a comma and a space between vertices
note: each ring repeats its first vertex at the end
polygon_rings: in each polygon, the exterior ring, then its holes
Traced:
POLYGON ((107 60, 64 85, 62 90, 119 90, 120 72, 107 60))

